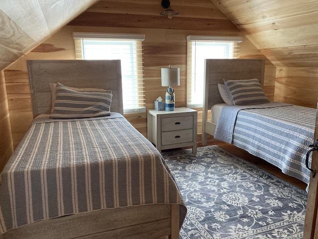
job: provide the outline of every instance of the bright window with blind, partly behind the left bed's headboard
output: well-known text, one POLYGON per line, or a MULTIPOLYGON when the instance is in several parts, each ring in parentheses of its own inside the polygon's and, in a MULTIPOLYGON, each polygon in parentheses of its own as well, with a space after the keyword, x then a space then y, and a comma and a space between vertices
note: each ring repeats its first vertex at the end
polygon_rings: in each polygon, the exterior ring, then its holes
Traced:
POLYGON ((121 60, 124 113, 146 112, 142 63, 143 34, 74 32, 76 59, 121 60))

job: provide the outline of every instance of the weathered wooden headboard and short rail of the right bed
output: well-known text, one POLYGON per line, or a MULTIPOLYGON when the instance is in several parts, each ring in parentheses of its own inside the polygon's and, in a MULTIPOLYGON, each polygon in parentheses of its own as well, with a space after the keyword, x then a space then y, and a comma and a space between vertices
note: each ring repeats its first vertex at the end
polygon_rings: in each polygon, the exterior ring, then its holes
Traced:
POLYGON ((202 144, 207 145, 208 134, 214 135, 216 123, 208 119, 208 111, 215 104, 224 103, 218 90, 223 79, 243 80, 257 78, 264 85, 264 59, 206 59, 204 102, 202 112, 202 144))

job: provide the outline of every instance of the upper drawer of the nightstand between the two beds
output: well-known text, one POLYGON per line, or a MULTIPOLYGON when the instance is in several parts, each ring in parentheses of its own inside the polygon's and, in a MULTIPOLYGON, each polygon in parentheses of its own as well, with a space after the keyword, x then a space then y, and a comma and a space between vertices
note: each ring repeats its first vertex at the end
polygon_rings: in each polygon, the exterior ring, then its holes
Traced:
POLYGON ((171 117, 161 119, 161 131, 193 128, 193 116, 171 117))

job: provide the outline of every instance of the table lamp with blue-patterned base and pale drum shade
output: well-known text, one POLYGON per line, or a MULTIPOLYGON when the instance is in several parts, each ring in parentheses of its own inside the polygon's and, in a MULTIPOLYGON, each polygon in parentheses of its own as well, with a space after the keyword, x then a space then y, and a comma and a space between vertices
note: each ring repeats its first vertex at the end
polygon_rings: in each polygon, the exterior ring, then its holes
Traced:
POLYGON ((171 86, 180 85, 180 68, 161 68, 161 86, 168 86, 165 93, 165 110, 174 111, 175 95, 171 86))

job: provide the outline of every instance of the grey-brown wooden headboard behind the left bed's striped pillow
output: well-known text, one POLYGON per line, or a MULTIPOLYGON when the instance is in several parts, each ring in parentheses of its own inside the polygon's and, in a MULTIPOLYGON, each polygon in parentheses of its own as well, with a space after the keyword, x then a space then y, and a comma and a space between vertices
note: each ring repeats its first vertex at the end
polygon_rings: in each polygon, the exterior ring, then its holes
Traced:
POLYGON ((111 90, 111 112, 123 115, 120 60, 28 60, 33 118, 50 114, 52 96, 49 83, 60 82, 77 88, 111 90))

